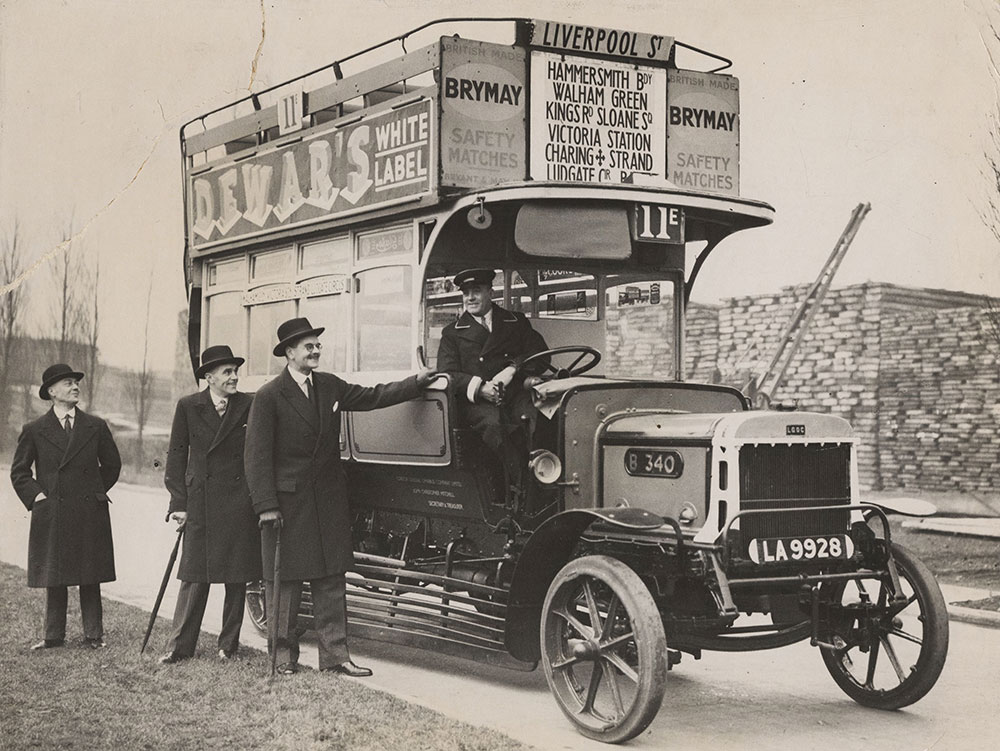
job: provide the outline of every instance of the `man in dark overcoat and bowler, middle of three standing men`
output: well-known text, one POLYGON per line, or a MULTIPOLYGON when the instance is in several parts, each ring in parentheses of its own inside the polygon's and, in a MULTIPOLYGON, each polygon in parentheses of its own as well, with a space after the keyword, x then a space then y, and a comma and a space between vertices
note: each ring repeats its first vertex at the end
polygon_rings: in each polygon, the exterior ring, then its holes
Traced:
POLYGON ((253 401, 237 390, 243 362, 224 344, 206 349, 195 371, 206 388, 182 397, 174 412, 163 482, 170 491, 167 518, 184 527, 184 551, 173 632, 161 663, 194 654, 212 583, 226 587, 219 657, 235 657, 246 583, 261 578, 260 531, 243 471, 253 401))

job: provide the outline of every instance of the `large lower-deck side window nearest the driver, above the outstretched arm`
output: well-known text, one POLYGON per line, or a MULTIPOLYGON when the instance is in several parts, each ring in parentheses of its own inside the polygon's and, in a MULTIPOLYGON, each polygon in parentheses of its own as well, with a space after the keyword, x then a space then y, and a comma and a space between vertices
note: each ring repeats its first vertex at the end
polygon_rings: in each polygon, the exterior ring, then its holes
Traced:
POLYGON ((409 369, 412 270, 384 266, 359 272, 357 279, 357 370, 409 369))

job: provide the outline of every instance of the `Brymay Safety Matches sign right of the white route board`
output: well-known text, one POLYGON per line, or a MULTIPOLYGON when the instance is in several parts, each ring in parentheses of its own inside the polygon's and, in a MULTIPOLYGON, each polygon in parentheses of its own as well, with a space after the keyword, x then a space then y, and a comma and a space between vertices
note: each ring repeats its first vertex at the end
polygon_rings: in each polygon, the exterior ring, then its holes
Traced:
POLYGON ((680 188, 739 195, 739 81, 671 70, 668 86, 667 179, 680 188))

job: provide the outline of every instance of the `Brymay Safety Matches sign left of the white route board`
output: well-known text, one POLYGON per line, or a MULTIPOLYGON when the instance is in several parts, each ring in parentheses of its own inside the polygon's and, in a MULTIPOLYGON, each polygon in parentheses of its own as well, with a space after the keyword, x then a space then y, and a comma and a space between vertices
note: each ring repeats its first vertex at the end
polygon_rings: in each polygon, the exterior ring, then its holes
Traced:
POLYGON ((481 188, 525 178, 525 51, 441 40, 441 185, 481 188))

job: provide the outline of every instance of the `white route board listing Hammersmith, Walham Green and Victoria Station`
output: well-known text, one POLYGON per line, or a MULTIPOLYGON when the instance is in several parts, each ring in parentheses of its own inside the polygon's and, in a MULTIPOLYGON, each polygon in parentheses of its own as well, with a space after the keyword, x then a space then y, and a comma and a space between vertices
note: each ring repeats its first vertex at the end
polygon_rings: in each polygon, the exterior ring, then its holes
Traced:
POLYGON ((531 177, 664 177, 666 80, 659 68, 532 52, 531 177))

